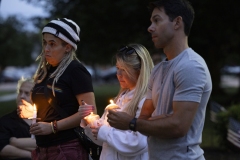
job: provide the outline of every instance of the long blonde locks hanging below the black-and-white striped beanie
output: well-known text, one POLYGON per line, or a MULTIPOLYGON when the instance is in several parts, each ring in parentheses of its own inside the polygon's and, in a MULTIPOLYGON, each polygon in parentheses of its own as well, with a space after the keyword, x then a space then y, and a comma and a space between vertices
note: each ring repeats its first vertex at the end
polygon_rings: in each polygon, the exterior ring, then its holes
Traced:
MULTIPOLYGON (((67 45, 67 43, 62 40, 62 45, 63 46, 67 45)), ((57 66, 57 69, 49 76, 49 78, 54 77, 53 84, 52 84, 52 92, 54 96, 55 96, 55 91, 54 91, 55 83, 57 83, 59 77, 61 77, 61 75, 64 73, 68 65, 74 59, 79 61, 79 59, 76 56, 75 50, 72 48, 70 52, 65 54, 65 56, 57 66)), ((37 57, 36 61, 38 60, 40 60, 40 62, 33 77, 35 83, 41 83, 44 80, 44 78, 46 78, 47 76, 47 69, 50 68, 50 64, 45 59, 44 49, 42 50, 41 54, 37 57)))

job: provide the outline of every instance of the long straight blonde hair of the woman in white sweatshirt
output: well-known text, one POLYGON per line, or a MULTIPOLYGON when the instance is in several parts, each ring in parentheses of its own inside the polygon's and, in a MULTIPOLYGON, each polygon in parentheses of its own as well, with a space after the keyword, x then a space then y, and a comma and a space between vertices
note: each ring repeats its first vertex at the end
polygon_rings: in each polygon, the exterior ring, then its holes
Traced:
MULTIPOLYGON (((133 80, 133 75, 135 75, 133 72, 139 72, 139 76, 135 80, 137 82, 134 95, 124 109, 124 111, 128 114, 135 116, 139 102, 142 98, 144 98, 144 96, 146 96, 148 80, 154 65, 148 50, 143 45, 130 44, 128 47, 132 47, 135 51, 129 55, 118 52, 116 54, 116 61, 124 67, 127 75, 133 80)), ((128 89, 126 88, 121 88, 117 97, 115 98, 115 102, 119 96, 127 90, 128 89)))

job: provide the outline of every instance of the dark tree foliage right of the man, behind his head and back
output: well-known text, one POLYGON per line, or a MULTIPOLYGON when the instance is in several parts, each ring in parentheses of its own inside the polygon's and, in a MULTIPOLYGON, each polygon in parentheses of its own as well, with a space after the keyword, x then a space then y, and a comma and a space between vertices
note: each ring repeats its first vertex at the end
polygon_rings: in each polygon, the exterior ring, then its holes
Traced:
POLYGON ((239 2, 192 0, 191 3, 195 8, 195 21, 189 43, 208 64, 213 82, 212 98, 226 105, 240 102, 240 87, 234 96, 220 87, 221 68, 240 65, 239 2))

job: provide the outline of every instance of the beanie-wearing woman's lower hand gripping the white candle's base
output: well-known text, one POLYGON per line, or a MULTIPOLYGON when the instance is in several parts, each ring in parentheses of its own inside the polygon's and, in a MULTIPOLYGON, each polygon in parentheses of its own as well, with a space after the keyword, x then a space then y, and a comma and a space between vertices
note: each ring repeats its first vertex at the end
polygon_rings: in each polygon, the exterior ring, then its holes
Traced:
POLYGON ((48 135, 53 133, 51 123, 37 122, 30 126, 30 133, 34 135, 48 135))

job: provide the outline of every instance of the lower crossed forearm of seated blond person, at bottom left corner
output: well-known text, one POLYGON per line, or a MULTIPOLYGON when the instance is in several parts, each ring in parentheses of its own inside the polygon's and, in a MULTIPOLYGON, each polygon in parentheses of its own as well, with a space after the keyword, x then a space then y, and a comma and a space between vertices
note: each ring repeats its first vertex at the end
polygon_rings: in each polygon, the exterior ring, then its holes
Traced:
POLYGON ((5 157, 9 159, 31 158, 31 152, 17 148, 15 146, 6 145, 0 152, 0 157, 5 157))

